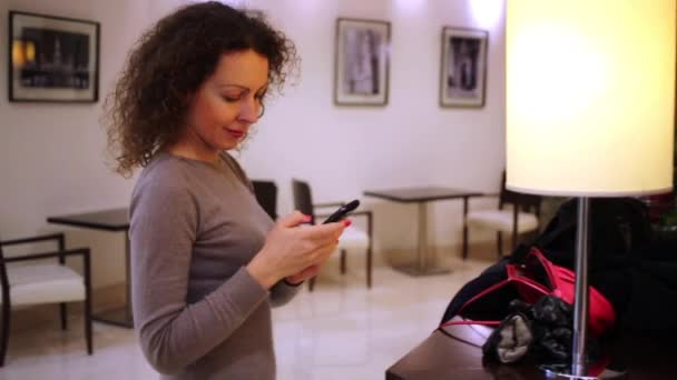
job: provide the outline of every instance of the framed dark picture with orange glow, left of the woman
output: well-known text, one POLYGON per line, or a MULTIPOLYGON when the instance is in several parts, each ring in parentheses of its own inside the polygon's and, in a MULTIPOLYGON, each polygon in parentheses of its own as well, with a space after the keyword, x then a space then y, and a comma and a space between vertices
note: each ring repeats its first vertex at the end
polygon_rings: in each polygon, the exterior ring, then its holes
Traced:
POLYGON ((9 100, 96 102, 99 23, 9 12, 9 100))

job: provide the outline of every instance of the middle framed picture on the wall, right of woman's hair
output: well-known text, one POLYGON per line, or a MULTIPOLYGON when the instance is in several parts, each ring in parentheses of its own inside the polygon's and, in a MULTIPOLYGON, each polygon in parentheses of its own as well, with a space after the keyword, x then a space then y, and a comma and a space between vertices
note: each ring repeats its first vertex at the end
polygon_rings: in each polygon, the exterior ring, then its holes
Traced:
POLYGON ((387 104, 390 22, 336 20, 334 103, 387 104))

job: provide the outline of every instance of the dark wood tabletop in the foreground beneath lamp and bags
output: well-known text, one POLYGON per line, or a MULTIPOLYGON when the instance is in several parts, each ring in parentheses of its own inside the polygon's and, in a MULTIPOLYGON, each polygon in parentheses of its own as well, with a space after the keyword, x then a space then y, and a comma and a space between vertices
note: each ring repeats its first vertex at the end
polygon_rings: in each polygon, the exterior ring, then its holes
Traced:
MULTIPOLYGON (((386 380, 532 380, 546 379, 532 362, 499 364, 483 362, 481 346, 487 328, 450 326, 436 330, 385 372, 386 380)), ((624 332, 626 333, 626 332, 624 332)), ((674 361, 677 347, 674 338, 649 337, 640 333, 617 337, 605 342, 612 363, 625 368, 624 379, 675 379, 674 361)))

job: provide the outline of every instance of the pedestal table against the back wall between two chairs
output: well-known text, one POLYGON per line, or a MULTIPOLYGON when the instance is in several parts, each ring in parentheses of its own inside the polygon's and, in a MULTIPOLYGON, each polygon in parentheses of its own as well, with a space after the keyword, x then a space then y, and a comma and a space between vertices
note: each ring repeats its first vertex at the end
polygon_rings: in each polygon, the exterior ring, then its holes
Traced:
MULTIPOLYGON (((478 191, 452 189, 443 187, 421 187, 421 188, 402 188, 389 190, 366 190, 364 196, 386 199, 401 203, 418 203, 419 206, 419 240, 416 249, 416 262, 395 267, 411 276, 426 276, 448 273, 450 270, 434 266, 434 257, 429 257, 428 252, 428 203, 439 200, 463 199, 463 218, 468 214, 468 199, 471 197, 481 197, 478 191)), ((468 234, 468 230, 463 229, 463 233, 468 234)), ((468 241, 468 239, 463 239, 468 241)))

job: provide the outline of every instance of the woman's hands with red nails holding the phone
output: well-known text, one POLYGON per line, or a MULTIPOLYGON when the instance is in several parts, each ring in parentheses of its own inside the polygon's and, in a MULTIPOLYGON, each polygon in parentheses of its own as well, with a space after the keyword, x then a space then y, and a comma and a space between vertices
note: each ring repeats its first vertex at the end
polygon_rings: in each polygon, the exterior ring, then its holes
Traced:
POLYGON ((265 289, 284 278, 292 277, 293 280, 287 280, 300 282, 315 276, 350 223, 300 226, 307 221, 308 217, 298 211, 281 219, 266 237, 262 250, 247 264, 249 274, 265 289))

